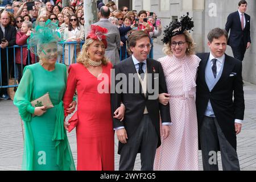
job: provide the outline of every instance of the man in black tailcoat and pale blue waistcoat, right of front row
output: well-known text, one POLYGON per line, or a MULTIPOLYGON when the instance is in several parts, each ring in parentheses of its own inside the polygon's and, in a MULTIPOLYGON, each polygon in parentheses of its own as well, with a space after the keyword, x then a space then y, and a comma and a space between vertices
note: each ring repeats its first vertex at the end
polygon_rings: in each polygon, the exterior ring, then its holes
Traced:
POLYGON ((197 55, 201 59, 196 81, 199 146, 207 171, 218 170, 219 150, 224 170, 240 170, 236 135, 245 110, 242 62, 225 54, 227 40, 228 32, 214 28, 208 34, 210 53, 197 55))

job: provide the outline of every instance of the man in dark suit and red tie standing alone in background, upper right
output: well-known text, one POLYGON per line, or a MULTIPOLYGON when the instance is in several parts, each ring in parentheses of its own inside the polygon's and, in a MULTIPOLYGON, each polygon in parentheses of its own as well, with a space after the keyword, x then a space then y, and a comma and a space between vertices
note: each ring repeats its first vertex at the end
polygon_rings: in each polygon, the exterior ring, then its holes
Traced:
POLYGON ((247 2, 238 3, 238 11, 230 14, 226 22, 226 31, 229 32, 228 45, 232 48, 233 55, 238 60, 243 60, 246 49, 251 45, 250 16, 245 13, 247 2))

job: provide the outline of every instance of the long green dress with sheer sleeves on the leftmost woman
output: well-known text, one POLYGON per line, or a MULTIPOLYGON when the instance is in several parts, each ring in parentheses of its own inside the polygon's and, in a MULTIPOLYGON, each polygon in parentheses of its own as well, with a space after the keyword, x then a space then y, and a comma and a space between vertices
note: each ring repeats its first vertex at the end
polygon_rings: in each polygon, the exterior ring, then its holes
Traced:
POLYGON ((67 71, 63 64, 56 63, 53 71, 47 71, 39 63, 24 68, 14 97, 25 129, 23 170, 75 170, 63 123, 66 82, 67 71), (40 117, 32 117, 35 108, 30 101, 47 92, 54 107, 40 117))

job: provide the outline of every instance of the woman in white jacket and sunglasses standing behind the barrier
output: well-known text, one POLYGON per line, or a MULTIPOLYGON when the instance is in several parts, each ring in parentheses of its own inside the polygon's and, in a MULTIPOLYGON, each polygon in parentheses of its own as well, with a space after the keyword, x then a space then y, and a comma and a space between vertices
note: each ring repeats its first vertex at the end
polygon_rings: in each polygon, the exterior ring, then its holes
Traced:
MULTIPOLYGON (((76 15, 72 15, 69 18, 69 25, 64 30, 65 42, 77 42, 76 44, 76 55, 80 52, 80 42, 84 40, 85 32, 84 27, 80 26, 79 19, 76 15)), ((75 63, 75 44, 65 45, 65 65, 75 63), (69 46, 70 45, 70 46, 69 46)), ((77 57, 77 56, 76 56, 77 57)))

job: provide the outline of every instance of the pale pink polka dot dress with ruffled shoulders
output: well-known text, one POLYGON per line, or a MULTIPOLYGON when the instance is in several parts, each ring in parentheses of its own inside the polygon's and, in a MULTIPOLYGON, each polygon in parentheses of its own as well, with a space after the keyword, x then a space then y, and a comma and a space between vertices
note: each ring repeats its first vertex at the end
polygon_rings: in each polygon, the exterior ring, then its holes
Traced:
POLYGON ((199 170, 195 94, 196 72, 200 59, 196 55, 185 56, 183 59, 166 56, 159 61, 166 77, 168 94, 171 95, 172 125, 170 136, 162 140, 162 145, 156 151, 154 169, 199 170))

